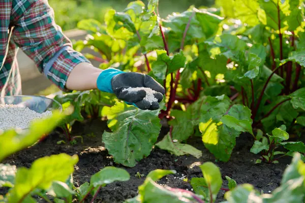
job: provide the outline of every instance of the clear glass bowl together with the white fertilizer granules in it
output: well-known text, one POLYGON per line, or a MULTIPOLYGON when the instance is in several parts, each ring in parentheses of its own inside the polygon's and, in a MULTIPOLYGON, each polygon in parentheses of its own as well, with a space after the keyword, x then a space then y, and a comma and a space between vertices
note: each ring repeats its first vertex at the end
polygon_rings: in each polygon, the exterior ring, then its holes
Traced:
POLYGON ((51 116, 54 110, 62 111, 62 105, 44 96, 0 97, 0 131, 27 129, 33 120, 51 116))

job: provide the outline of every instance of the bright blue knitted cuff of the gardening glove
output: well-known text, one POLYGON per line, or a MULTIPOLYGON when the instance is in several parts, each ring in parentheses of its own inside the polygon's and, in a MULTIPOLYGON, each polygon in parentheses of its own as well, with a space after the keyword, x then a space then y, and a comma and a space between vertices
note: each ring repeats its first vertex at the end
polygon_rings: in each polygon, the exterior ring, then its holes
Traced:
POLYGON ((113 76, 116 76, 118 74, 124 73, 123 71, 109 68, 104 70, 97 79, 97 87, 100 91, 113 93, 112 87, 111 87, 111 79, 113 76))

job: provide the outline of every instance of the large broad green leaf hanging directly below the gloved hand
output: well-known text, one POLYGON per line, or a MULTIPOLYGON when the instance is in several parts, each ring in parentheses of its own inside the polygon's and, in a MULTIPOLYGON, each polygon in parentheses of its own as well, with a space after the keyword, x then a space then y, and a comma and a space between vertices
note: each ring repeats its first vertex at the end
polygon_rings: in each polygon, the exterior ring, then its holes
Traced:
POLYGON ((133 167, 136 161, 150 154, 161 129, 159 111, 143 111, 117 103, 110 108, 108 127, 103 142, 116 163, 133 167))

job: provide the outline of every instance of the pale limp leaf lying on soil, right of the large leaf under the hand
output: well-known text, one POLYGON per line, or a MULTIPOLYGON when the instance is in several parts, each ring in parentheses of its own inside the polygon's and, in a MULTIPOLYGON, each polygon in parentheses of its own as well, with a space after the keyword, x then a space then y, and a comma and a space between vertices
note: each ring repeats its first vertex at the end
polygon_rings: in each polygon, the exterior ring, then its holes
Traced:
POLYGON ((157 143, 156 146, 176 156, 182 156, 185 154, 191 154, 196 158, 200 158, 202 156, 202 152, 195 147, 192 147, 191 145, 173 142, 169 134, 167 134, 167 136, 165 136, 162 141, 157 143))

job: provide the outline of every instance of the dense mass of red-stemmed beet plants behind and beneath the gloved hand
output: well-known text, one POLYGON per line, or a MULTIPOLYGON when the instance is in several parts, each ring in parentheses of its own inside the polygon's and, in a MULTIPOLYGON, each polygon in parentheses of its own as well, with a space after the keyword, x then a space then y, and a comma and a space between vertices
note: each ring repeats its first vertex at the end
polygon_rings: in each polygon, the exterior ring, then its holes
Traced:
POLYGON ((134 166, 154 145, 200 157, 186 143, 199 133, 221 161, 230 159, 242 133, 252 134, 254 142, 258 129, 271 134, 285 125, 298 139, 305 126, 302 1, 231 0, 228 7, 218 0, 216 8, 190 7, 165 19, 158 4, 135 1, 124 11, 109 10, 105 22, 78 23, 88 35, 75 49, 94 49, 99 56, 87 56, 100 61, 101 69, 142 72, 166 88, 159 111, 142 111, 95 90, 82 103, 80 110, 96 95, 95 105, 108 97, 98 115, 112 130, 103 142, 115 162, 134 166), (160 120, 169 132, 156 143, 160 120))

